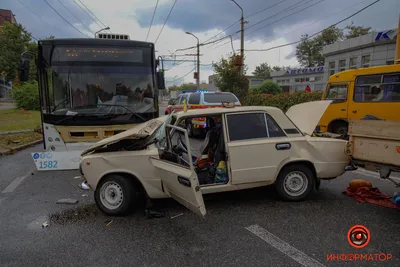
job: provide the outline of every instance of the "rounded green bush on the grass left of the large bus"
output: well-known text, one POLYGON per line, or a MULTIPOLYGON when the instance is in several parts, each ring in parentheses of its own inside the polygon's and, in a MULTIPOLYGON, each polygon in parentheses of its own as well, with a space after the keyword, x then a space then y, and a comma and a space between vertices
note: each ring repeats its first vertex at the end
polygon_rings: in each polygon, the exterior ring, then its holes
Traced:
POLYGON ((12 96, 18 108, 40 110, 39 87, 37 81, 26 82, 13 87, 12 96))

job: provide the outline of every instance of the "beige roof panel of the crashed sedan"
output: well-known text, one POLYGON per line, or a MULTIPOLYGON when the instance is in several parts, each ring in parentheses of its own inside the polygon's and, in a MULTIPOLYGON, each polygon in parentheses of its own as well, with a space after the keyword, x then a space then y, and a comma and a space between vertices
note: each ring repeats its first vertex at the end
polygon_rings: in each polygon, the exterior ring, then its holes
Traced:
POLYGON ((187 112, 179 111, 176 113, 177 118, 191 117, 197 115, 209 115, 215 113, 235 113, 246 111, 267 111, 267 112, 282 112, 279 108, 268 106, 245 106, 233 108, 207 108, 207 109, 189 109, 187 112))

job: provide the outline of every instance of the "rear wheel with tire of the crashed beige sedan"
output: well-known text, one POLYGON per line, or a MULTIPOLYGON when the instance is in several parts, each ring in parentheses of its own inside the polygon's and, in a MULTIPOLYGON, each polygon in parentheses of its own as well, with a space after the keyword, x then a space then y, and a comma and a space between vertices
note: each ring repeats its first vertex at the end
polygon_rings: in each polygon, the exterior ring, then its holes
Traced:
POLYGON ((312 192, 314 184, 315 176, 309 167, 293 164, 281 170, 275 187, 281 199, 301 201, 312 192))

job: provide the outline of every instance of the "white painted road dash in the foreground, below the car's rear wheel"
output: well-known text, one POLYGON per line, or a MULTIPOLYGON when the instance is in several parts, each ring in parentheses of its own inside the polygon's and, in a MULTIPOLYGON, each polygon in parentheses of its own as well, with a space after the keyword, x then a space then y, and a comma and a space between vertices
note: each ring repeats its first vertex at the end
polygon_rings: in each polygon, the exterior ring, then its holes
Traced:
POLYGON ((290 244, 286 243, 279 237, 271 234, 270 232, 268 232, 267 230, 265 230, 264 228, 262 228, 257 224, 250 225, 246 227, 246 229, 303 266, 325 267, 325 265, 307 256, 306 254, 296 249, 295 247, 292 247, 290 244))

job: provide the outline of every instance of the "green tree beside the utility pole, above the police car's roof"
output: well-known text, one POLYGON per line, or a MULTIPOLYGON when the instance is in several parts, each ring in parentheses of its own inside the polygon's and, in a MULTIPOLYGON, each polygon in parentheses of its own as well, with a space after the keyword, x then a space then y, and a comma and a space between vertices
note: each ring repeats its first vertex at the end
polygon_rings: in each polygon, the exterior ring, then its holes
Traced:
MULTIPOLYGON (((243 75, 240 75, 239 69, 235 64, 235 58, 222 57, 221 60, 213 64, 214 71, 217 74, 216 85, 223 92, 231 92, 237 97, 245 96, 249 89, 249 81, 243 75)), ((247 66, 243 66, 243 73, 247 71, 247 66)))

